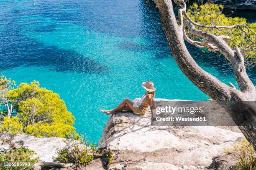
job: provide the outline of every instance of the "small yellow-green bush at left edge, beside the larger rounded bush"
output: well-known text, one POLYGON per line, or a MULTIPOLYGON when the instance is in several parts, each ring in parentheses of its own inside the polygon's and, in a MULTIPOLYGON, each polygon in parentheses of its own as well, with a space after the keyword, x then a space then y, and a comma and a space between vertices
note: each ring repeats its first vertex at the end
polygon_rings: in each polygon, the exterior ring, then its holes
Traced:
POLYGON ((18 121, 18 117, 4 117, 3 125, 0 126, 0 132, 3 133, 22 133, 23 132, 23 123, 18 121))

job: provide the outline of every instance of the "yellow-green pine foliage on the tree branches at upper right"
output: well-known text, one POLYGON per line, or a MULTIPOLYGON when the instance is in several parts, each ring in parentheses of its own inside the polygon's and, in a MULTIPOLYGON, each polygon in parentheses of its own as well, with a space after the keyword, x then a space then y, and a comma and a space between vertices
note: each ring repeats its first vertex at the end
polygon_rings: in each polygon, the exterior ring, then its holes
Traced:
MULTIPOLYGON (((256 22, 255 23, 247 23, 246 18, 240 17, 228 17, 222 13, 224 6, 217 5, 213 3, 205 3, 203 5, 198 5, 197 3, 193 3, 189 6, 187 10, 188 16, 201 25, 218 25, 218 26, 231 26, 231 25, 247 25, 248 28, 243 27, 243 30, 236 28, 202 28, 200 26, 196 26, 197 29, 203 30, 205 32, 212 33, 214 35, 225 35, 229 36, 231 39, 226 40, 228 45, 233 49, 236 49, 238 46, 241 50, 241 53, 246 59, 247 64, 255 65, 255 56, 256 56, 256 37, 252 34, 256 32, 256 22), (253 42, 252 42, 252 41, 253 42)), ((188 35, 193 40, 198 40, 200 37, 193 36, 189 34, 189 30, 186 30, 188 35)))

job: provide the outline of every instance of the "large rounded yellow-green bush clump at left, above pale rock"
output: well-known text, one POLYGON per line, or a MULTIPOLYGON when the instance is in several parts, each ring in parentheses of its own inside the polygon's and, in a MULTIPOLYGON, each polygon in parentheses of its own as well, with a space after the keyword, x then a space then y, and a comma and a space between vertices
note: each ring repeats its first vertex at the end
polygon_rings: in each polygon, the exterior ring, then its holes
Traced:
MULTIPOLYGON (((1 80, 6 78, 2 77, 1 80)), ((15 89, 10 88, 10 83, 8 86, 4 85, 1 87, 8 90, 3 90, 6 94, 1 92, 0 97, 3 108, 0 132, 23 132, 39 138, 69 138, 71 135, 79 138, 73 127, 74 116, 67 110, 65 102, 58 94, 41 88, 36 81, 30 84, 21 83, 15 89)))

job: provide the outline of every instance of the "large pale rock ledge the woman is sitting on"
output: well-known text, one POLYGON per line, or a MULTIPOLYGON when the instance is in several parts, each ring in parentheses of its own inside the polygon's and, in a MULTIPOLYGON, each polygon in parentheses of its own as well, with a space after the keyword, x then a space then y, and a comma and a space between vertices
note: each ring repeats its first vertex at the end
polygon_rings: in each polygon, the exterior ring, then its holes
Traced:
POLYGON ((148 109, 143 116, 111 116, 98 145, 115 152, 113 170, 204 170, 242 137, 237 127, 151 126, 148 109))

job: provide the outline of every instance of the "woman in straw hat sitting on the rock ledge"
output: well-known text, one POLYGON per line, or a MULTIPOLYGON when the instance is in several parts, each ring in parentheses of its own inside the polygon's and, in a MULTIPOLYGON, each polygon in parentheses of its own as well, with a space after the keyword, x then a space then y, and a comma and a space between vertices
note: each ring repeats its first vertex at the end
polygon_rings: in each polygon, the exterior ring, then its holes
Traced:
POLYGON ((122 112, 123 110, 132 111, 134 115, 145 115, 148 106, 154 105, 155 88, 154 83, 146 81, 141 84, 146 90, 146 93, 141 97, 138 102, 133 102, 129 99, 124 99, 117 107, 111 110, 100 110, 101 112, 108 114, 115 114, 116 112, 122 112))

